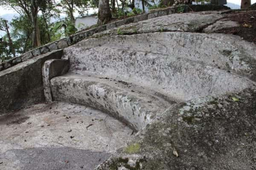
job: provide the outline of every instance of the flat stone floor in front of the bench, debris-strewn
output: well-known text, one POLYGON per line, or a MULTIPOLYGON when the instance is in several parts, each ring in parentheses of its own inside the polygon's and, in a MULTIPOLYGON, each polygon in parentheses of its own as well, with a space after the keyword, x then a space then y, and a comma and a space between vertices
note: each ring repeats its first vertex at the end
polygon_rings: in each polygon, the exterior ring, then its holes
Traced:
POLYGON ((132 137, 100 111, 61 102, 0 115, 0 131, 1 170, 92 170, 132 137))

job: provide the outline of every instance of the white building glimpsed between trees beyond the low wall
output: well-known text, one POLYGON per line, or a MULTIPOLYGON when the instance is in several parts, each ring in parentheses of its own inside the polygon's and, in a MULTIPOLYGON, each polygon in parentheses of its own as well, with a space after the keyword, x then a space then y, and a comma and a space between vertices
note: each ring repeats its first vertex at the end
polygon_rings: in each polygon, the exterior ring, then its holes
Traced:
POLYGON ((95 25, 98 22, 97 15, 87 15, 85 17, 77 17, 75 26, 78 31, 85 29, 89 26, 95 25))

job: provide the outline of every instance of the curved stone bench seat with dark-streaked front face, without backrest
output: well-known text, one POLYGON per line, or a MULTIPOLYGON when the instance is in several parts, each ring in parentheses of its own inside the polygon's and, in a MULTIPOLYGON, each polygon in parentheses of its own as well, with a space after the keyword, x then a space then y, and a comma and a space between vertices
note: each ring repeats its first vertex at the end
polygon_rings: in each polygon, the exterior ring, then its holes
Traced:
POLYGON ((51 79, 52 98, 84 104, 118 118, 134 130, 141 130, 176 101, 153 90, 90 74, 68 73, 51 79))

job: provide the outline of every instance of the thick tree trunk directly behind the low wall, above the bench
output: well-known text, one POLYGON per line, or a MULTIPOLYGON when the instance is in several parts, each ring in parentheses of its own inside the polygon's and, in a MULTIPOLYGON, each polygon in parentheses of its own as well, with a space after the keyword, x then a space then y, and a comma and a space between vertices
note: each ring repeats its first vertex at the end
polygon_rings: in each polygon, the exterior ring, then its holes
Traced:
POLYGON ((98 24, 104 25, 111 20, 109 0, 99 0, 98 24))

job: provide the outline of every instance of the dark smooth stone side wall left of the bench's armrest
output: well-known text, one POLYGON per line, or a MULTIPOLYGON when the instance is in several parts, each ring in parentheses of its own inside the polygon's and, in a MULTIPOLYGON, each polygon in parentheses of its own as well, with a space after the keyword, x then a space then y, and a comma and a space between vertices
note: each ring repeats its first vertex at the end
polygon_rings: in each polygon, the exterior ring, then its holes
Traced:
POLYGON ((0 114, 43 102, 42 66, 61 56, 62 49, 55 50, 0 72, 0 114))

